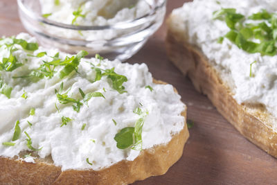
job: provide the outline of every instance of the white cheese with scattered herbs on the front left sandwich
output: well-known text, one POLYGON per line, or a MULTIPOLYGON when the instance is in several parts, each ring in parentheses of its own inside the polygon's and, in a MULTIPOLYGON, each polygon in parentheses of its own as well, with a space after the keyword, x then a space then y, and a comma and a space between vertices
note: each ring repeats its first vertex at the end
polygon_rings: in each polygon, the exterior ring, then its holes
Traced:
POLYGON ((84 51, 67 55, 35 42, 25 33, 0 41, 1 157, 28 150, 62 170, 99 170, 136 159, 140 142, 141 149, 166 144, 183 129, 181 97, 172 85, 153 83, 146 64, 86 59, 84 51), (125 128, 135 139, 120 149, 115 136, 125 128))

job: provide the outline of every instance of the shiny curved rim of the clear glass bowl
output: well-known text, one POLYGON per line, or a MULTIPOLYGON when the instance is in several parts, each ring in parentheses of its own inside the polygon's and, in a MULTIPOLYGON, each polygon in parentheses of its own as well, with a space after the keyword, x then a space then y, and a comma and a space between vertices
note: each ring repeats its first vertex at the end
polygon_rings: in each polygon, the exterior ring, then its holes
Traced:
POLYGON ((17 0, 17 5, 19 6, 19 9, 22 10, 28 17, 35 21, 39 21, 43 24, 48 24, 49 26, 56 26, 59 28, 66 28, 66 29, 71 29, 71 30, 107 30, 107 29, 125 29, 125 28, 132 28, 134 26, 139 26, 145 21, 148 21, 147 17, 150 17, 151 15, 154 15, 159 8, 162 8, 163 6, 166 5, 167 0, 163 0, 160 5, 154 6, 151 12, 149 12, 146 15, 143 15, 142 17, 132 19, 129 21, 121 21, 118 22, 117 24, 111 24, 111 25, 106 25, 106 26, 75 26, 71 24, 62 24, 57 21, 52 21, 49 19, 46 19, 42 17, 41 15, 36 15, 34 12, 30 11, 26 6, 24 6, 24 3, 22 2, 23 0, 17 0))

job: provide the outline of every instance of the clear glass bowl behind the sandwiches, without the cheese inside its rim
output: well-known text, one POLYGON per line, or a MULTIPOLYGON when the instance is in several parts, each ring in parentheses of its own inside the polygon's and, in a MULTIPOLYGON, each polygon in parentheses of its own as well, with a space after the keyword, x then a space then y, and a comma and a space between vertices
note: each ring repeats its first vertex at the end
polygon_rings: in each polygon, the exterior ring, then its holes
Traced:
POLYGON ((17 0, 19 17, 28 32, 46 47, 55 47, 67 53, 80 50, 96 53, 109 60, 125 61, 131 58, 163 23, 166 0, 145 0, 150 12, 137 19, 120 21, 107 26, 75 26, 42 17, 38 0, 17 0), (89 37, 76 37, 77 34, 89 37))

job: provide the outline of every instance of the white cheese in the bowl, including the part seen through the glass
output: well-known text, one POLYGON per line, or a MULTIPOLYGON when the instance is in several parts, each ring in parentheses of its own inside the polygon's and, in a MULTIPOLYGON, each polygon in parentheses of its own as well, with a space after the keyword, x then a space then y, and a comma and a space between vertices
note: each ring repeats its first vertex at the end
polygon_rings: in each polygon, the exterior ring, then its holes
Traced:
MULTIPOLYGON (((39 0, 47 19, 75 26, 107 26, 131 21, 151 12, 145 0, 39 0), (55 3, 55 2, 59 3, 55 3)), ((128 33, 128 29, 68 30, 46 26, 49 33, 69 39, 100 41, 128 33)), ((135 28, 138 29, 138 28, 135 28)), ((102 41, 103 42, 103 41, 102 41)), ((102 42, 99 45, 102 46, 102 42)), ((94 43, 96 44, 96 43, 94 43)))

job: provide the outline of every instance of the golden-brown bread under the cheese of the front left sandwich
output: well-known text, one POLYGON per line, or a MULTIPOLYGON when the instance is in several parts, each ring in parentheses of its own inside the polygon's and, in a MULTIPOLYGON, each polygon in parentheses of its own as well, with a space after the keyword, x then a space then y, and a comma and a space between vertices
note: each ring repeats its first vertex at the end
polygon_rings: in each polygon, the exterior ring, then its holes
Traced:
MULTIPOLYGON (((154 80, 157 84, 166 84, 154 80)), ((177 93, 176 89, 175 92, 177 93)), ((183 154, 188 140, 186 108, 184 128, 169 143, 141 151, 134 161, 120 161, 102 170, 66 170, 53 165, 51 156, 35 164, 0 157, 0 184, 131 184, 154 175, 163 175, 183 154)), ((24 156, 24 153, 20 154, 24 156)))

